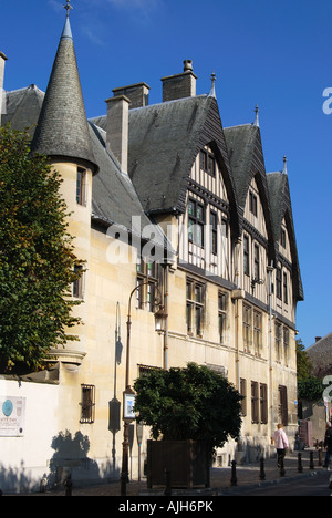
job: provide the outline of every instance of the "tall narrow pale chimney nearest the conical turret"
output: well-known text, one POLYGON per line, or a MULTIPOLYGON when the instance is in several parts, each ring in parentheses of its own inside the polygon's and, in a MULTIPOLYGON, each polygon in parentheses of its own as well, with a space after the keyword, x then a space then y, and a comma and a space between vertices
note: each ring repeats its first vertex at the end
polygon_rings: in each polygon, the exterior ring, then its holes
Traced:
POLYGON ((124 173, 128 172, 129 99, 107 99, 106 141, 124 173))

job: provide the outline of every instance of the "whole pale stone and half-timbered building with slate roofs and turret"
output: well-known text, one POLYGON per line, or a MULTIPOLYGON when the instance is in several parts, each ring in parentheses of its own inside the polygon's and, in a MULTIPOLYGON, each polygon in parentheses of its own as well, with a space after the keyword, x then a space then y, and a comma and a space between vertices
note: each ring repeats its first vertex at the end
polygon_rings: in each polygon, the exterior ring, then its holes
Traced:
MULTIPOLYGON (((0 71, 6 59, 0 52, 0 71)), ((297 432, 303 290, 287 167, 266 172, 258 117, 222 127, 214 81, 196 95, 190 61, 162 81, 162 103, 148 104, 146 83, 116 87, 105 115, 87 121, 66 17, 45 94, 35 85, 2 94, 1 123, 35 124, 32 152, 60 172, 75 253, 86 261, 73 286, 83 302, 79 341, 50 352, 43 380, 56 404, 52 433, 40 441, 56 447, 51 457, 44 448, 39 466, 25 462, 31 479, 118 478, 123 392, 151 369, 196 362, 241 393, 241 437, 218 452, 218 465, 269 456, 279 422, 291 442, 297 432)), ((29 381, 42 391, 37 377, 29 381)), ((134 478, 147 438, 144 429, 138 448, 133 422, 134 478)), ((0 474, 20 465, 20 452, 0 474)))

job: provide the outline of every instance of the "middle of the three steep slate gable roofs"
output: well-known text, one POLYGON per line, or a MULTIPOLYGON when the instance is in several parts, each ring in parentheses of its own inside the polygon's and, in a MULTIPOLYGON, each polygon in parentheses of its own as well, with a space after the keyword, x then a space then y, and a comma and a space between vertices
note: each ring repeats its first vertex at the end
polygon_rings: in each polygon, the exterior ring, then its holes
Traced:
POLYGON ((259 126, 243 124, 241 126, 226 127, 224 133, 238 201, 242 211, 245 210, 248 189, 253 177, 258 184, 269 235, 269 255, 270 259, 273 260, 276 258, 274 236, 259 126))

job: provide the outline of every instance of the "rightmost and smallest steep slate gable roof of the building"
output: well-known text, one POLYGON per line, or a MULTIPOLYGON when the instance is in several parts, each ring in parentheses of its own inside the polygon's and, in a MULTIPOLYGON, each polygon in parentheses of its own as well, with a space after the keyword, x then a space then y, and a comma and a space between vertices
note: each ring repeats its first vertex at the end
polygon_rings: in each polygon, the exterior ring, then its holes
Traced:
POLYGON ((292 255, 295 297, 297 300, 304 300, 288 175, 282 172, 268 173, 267 182, 271 203, 276 248, 277 250, 279 249, 281 224, 283 218, 286 218, 292 255))

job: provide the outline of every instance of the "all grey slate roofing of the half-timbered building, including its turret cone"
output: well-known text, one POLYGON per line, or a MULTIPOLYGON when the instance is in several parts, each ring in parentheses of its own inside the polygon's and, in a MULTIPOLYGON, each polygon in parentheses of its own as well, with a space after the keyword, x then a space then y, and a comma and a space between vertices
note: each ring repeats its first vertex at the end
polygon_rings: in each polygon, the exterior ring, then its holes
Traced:
MULTIPOLYGON (((75 51, 66 19, 46 94, 31 85, 7 93, 7 115, 23 130, 38 121, 32 149, 49 156, 85 160, 101 174, 93 182, 93 218, 131 228, 139 215, 146 226, 156 214, 184 213, 193 163, 210 145, 227 188, 232 236, 242 231, 243 208, 252 177, 258 182, 274 258, 282 218, 287 218, 293 257, 295 296, 303 300, 287 176, 266 174, 260 130, 256 124, 222 128, 217 100, 198 95, 129 111, 128 172, 105 144, 106 116, 87 123, 75 51), (42 106, 42 107, 41 107, 42 106), (38 118, 39 111, 40 116, 38 118)), ((158 232, 157 232, 158 234, 158 232)), ((163 234, 156 239, 163 240, 163 234)), ((167 244, 168 245, 168 244, 167 244)))

